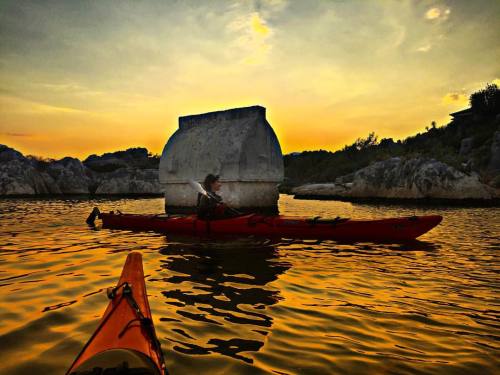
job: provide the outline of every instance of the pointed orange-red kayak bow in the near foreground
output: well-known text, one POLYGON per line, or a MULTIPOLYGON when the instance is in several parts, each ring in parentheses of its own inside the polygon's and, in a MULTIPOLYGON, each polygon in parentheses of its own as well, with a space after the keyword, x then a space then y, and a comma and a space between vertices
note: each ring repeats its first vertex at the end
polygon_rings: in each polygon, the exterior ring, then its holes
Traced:
POLYGON ((95 333, 67 375, 166 375, 146 294, 142 256, 130 253, 95 333))

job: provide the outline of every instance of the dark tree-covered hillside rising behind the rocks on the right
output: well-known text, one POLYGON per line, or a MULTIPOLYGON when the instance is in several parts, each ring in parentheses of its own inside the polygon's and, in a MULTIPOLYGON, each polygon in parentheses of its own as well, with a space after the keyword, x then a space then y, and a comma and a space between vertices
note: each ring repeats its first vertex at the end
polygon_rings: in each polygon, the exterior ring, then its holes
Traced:
POLYGON ((470 104, 470 108, 452 113, 449 124, 437 127, 432 122, 424 133, 404 140, 379 140, 375 133, 370 133, 339 151, 285 155, 281 190, 332 182, 391 157, 436 159, 465 173, 477 172, 484 183, 500 187, 500 150, 495 141, 500 136, 500 89, 489 84, 470 96, 470 104))

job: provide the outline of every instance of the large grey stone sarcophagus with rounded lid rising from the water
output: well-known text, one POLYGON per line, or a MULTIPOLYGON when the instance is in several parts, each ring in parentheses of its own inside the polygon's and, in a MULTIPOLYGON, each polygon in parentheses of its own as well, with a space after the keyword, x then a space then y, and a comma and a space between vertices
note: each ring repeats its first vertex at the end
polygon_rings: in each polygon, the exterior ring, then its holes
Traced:
POLYGON ((220 175, 219 194, 234 208, 277 209, 283 156, 266 109, 235 108, 179 118, 160 159, 159 178, 167 212, 189 212, 197 193, 189 180, 220 175))

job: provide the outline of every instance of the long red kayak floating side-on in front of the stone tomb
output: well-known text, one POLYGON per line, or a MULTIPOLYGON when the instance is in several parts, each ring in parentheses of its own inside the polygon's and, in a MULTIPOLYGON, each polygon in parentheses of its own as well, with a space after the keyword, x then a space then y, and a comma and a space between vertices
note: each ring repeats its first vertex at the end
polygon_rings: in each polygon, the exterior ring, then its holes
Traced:
POLYGON ((241 235, 338 241, 408 241, 428 232, 443 219, 439 215, 411 216, 379 220, 336 218, 319 220, 243 215, 230 219, 199 220, 196 215, 134 215, 100 213, 103 227, 154 231, 191 236, 241 235))

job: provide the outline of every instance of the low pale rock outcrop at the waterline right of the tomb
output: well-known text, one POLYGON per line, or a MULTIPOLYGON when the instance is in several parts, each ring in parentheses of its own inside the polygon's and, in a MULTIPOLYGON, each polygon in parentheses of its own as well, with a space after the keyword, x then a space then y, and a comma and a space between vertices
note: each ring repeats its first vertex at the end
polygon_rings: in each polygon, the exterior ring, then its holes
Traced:
POLYGON ((335 183, 295 188, 297 197, 389 199, 482 199, 498 197, 475 173, 465 174, 433 159, 391 158, 338 178, 335 183))

